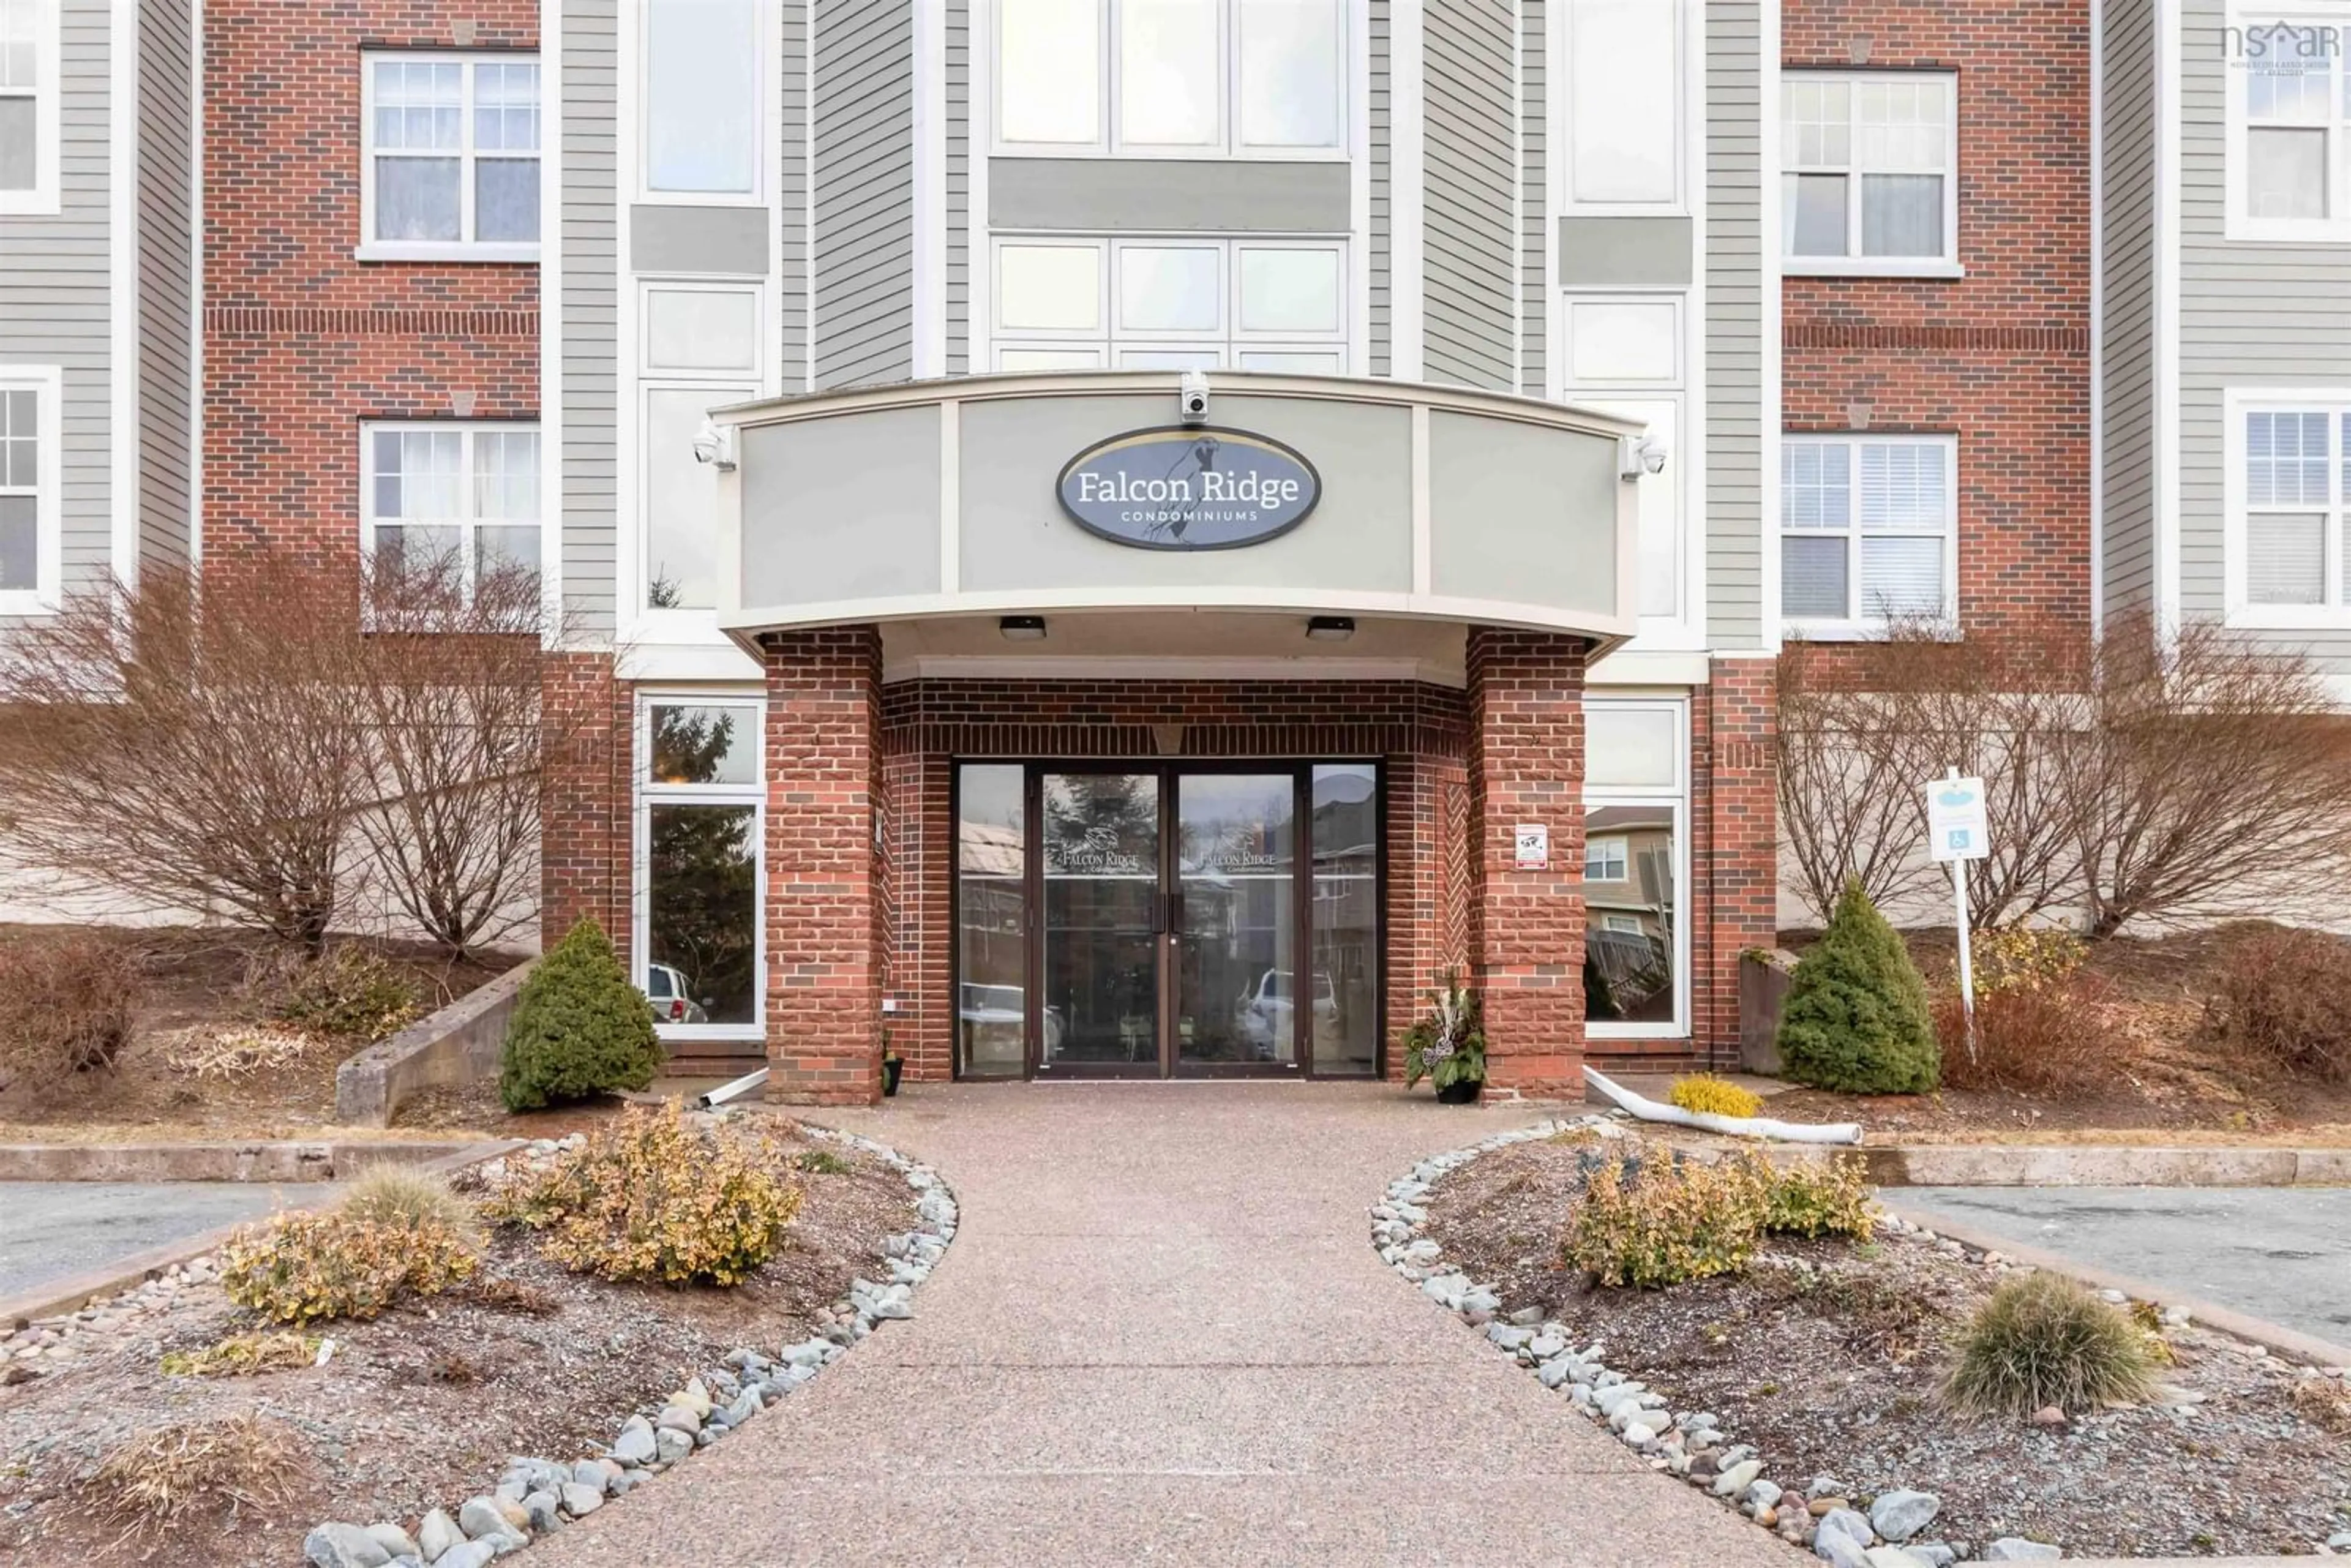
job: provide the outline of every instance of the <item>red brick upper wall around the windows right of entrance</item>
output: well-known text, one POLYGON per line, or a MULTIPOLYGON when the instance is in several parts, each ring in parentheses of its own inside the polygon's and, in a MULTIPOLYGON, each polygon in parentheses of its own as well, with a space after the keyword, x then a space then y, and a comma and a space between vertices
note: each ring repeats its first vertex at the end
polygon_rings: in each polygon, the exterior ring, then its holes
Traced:
POLYGON ((2081 0, 1789 0, 1787 71, 1958 75, 1965 277, 1789 277, 1787 430, 1958 437, 1958 614, 2090 618, 2090 28, 2081 0))

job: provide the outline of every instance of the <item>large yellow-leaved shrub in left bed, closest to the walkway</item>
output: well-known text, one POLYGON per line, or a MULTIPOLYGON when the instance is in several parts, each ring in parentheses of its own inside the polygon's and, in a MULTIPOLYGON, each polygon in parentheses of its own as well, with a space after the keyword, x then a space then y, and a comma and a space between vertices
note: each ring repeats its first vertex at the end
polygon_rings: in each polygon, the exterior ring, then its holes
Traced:
POLYGON ((734 1286, 799 1213, 781 1164, 752 1133, 632 1107, 508 1185, 489 1215, 541 1232, 538 1248, 581 1274, 734 1286))

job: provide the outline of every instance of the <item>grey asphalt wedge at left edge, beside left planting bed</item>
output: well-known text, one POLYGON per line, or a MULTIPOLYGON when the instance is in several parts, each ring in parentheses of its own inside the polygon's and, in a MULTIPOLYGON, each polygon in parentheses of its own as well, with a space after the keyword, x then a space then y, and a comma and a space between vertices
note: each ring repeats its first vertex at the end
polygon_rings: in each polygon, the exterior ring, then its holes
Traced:
POLYGON ((315 1204, 266 1182, 0 1182, 0 1298, 230 1220, 315 1204))

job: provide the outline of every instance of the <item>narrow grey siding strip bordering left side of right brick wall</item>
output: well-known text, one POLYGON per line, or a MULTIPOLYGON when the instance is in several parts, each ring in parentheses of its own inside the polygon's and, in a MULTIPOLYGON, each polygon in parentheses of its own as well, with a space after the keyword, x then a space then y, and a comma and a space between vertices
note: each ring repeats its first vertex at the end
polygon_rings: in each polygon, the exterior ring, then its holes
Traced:
POLYGON ((1763 644, 1763 167, 1754 0, 1707 7, 1707 642, 1763 644))

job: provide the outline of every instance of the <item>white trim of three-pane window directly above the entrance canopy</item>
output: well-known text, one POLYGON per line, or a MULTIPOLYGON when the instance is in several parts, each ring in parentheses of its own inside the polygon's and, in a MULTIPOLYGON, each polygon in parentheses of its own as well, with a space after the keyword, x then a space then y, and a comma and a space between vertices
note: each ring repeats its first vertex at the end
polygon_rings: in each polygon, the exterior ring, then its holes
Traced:
POLYGON ((1168 233, 1168 235, 1145 235, 1145 233, 1117 233, 1117 235, 1072 235, 1072 233, 992 233, 987 242, 987 280, 990 294, 985 301, 987 317, 987 343, 985 357, 976 357, 976 364, 994 369, 999 357, 1011 350, 1067 350, 1086 348, 1103 355, 1100 369, 1117 369, 1119 353, 1180 353, 1180 350, 1215 350, 1220 355, 1230 353, 1234 369, 1239 367, 1239 355, 1244 353, 1298 353, 1298 355, 1335 355, 1338 374, 1349 374, 1357 364, 1354 346, 1354 266, 1349 256, 1349 240, 1345 237, 1314 237, 1314 235, 1232 235, 1232 233, 1168 233), (1067 331, 1067 329, 1009 329, 997 322, 999 296, 1004 280, 1002 252, 1006 247, 1091 247, 1096 252, 1096 301, 1100 303, 1100 324, 1091 331, 1067 331), (1220 310, 1218 327, 1213 331, 1147 331, 1147 329, 1121 329, 1117 322, 1117 254, 1121 249, 1161 249, 1161 247, 1190 247, 1190 249, 1213 249, 1218 252, 1218 282, 1220 282, 1220 310), (1326 334, 1305 331, 1244 331, 1241 329, 1241 249, 1302 249, 1302 252, 1328 252, 1338 256, 1338 327, 1326 334))

